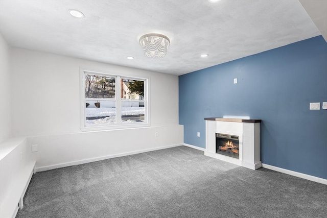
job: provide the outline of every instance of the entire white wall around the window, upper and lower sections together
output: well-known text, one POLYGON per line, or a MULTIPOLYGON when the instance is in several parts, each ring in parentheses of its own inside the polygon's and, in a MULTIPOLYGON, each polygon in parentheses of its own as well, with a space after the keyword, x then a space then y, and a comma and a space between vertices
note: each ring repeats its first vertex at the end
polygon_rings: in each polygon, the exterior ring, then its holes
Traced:
POLYGON ((38 144, 33 155, 41 170, 183 143, 177 76, 17 48, 11 50, 11 60, 12 134, 28 136, 29 146, 38 144), (150 77, 151 126, 82 132, 80 67, 150 77))

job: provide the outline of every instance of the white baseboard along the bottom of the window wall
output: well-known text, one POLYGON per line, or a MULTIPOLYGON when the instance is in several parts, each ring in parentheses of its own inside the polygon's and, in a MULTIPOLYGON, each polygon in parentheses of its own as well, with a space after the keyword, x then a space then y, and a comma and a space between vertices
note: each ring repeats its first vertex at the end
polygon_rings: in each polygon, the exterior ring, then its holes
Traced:
POLYGON ((35 170, 36 170, 36 172, 49 171, 50 169, 56 169, 56 168, 61 168, 61 167, 66 167, 66 166, 74 166, 74 165, 79 165, 79 164, 83 164, 83 163, 96 162, 96 161, 106 160, 106 159, 115 158, 115 157, 123 157, 123 156, 157 151, 157 150, 162 150, 162 149, 169 149, 169 148, 174 148, 174 147, 178 147, 178 146, 182 146, 182 144, 171 144, 169 146, 162 146, 162 147, 138 150, 138 151, 133 151, 133 152, 106 155, 106 156, 95 157, 95 158, 87 158, 87 159, 76 160, 76 161, 65 162, 65 163, 58 163, 58 164, 53 164, 53 165, 48 165, 48 166, 38 166, 35 168, 35 170))

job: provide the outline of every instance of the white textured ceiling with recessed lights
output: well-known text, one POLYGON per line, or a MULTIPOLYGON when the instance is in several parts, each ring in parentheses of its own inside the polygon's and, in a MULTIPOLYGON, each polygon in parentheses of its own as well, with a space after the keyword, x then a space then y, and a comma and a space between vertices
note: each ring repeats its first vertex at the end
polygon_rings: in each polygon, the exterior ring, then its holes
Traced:
POLYGON ((0 31, 15 47, 173 75, 320 35, 298 0, 1 0, 0 31), (144 56, 152 32, 170 38, 166 57, 144 56))

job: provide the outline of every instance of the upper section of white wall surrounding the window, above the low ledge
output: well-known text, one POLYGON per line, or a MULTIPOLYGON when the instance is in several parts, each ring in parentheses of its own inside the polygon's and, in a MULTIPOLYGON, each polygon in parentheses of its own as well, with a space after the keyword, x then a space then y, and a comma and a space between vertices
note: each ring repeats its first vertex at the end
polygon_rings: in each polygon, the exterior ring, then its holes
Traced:
POLYGON ((151 126, 178 124, 178 77, 49 53, 13 48, 14 136, 80 130, 80 67, 150 77, 151 126))

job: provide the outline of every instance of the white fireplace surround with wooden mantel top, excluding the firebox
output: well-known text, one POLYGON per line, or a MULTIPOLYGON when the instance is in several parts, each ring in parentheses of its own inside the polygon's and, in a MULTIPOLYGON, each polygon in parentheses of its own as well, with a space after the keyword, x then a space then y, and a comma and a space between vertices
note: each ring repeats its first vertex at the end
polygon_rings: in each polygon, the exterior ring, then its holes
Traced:
POLYGON ((261 167, 260 123, 261 119, 204 118, 204 155, 234 163, 250 169, 261 167), (216 133, 239 136, 239 159, 216 153, 216 133))

